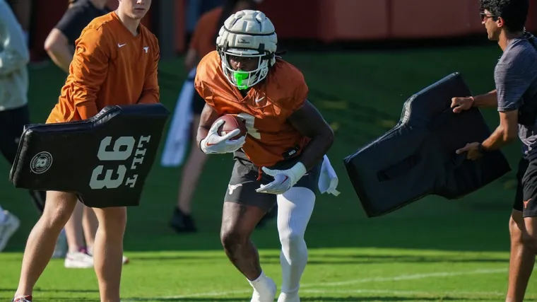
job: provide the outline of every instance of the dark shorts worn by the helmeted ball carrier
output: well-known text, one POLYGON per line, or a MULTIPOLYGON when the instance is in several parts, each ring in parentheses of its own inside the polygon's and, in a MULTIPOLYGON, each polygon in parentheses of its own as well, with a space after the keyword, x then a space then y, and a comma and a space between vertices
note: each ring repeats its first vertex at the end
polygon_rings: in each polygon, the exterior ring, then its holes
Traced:
MULTIPOLYGON (((261 169, 249 161, 242 151, 235 152, 233 156, 235 165, 231 173, 228 190, 225 192, 224 202, 237 202, 239 204, 259 207, 266 212, 270 211, 276 204, 277 195, 258 193, 256 190, 261 185, 267 185, 272 182, 274 180, 273 177, 262 173, 261 169), (258 180, 260 171, 261 178, 258 180)), ((297 163, 297 159, 290 158, 268 168, 286 170, 292 168, 295 163, 297 163)), ((321 165, 322 161, 312 168, 312 170, 309 170, 306 175, 302 176, 294 187, 306 187, 312 190, 312 192, 317 192, 321 165)))

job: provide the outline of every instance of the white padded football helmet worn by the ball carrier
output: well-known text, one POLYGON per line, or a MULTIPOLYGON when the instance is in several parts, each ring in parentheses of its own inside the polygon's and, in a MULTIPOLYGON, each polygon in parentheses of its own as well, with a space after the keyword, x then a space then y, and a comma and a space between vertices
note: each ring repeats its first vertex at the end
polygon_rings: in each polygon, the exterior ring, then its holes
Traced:
POLYGON ((274 25, 261 11, 244 10, 232 14, 216 38, 225 77, 239 89, 250 88, 265 79, 268 68, 276 64, 277 42, 274 25), (230 66, 229 56, 257 58, 257 69, 235 71, 230 66))

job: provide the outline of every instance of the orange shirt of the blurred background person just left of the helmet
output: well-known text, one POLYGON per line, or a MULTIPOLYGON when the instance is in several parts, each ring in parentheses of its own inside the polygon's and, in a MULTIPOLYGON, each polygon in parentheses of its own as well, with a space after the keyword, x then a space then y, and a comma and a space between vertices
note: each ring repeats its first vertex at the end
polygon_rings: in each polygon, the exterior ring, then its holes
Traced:
POLYGON ((214 37, 218 30, 220 30, 220 28, 216 27, 218 26, 218 20, 220 20, 222 12, 222 6, 218 6, 211 9, 211 11, 203 13, 199 17, 189 45, 190 49, 196 50, 199 58, 205 57, 209 52, 216 50, 216 40, 214 37))

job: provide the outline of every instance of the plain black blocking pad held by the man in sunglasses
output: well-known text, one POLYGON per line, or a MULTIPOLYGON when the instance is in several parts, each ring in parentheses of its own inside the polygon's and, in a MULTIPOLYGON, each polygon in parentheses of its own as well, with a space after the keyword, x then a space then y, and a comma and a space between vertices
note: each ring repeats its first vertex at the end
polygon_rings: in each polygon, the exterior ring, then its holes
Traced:
POLYGON ((430 194, 459 199, 509 173, 501 151, 477 161, 455 153, 491 134, 478 108, 460 113, 450 108, 452 98, 468 95, 459 73, 446 76, 408 98, 393 129, 343 160, 368 217, 430 194))

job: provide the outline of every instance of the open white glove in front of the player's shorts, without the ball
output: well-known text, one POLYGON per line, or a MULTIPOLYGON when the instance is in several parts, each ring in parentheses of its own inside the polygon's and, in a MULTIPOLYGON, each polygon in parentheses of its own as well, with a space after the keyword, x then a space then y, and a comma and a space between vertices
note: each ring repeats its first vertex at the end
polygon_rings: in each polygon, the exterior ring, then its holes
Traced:
POLYGON ((271 175, 274 178, 274 181, 268 185, 261 185, 256 192, 268 194, 285 193, 293 187, 293 185, 296 185, 298 180, 307 173, 306 167, 304 164, 300 163, 300 161, 293 165, 293 168, 288 170, 271 170, 265 167, 263 167, 262 170, 267 175, 271 175))

